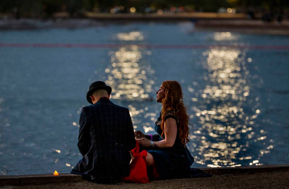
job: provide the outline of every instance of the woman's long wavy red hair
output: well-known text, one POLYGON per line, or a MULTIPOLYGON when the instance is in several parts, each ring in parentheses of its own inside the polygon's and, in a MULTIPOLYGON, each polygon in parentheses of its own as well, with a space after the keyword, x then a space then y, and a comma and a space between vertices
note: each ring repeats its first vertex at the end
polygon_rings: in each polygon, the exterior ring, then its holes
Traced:
POLYGON ((185 145, 190 140, 189 136, 189 117, 186 113, 186 108, 183 103, 182 87, 177 81, 164 81, 162 88, 165 91, 165 98, 162 99, 162 136, 164 135, 165 115, 168 110, 173 109, 174 115, 178 118, 178 130, 182 144, 185 145))

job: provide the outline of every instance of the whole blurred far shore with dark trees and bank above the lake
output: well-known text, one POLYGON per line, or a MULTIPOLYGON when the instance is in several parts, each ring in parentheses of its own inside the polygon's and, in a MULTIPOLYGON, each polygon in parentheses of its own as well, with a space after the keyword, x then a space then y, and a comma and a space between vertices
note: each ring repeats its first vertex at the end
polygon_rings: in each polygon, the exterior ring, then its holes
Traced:
POLYGON ((73 29, 147 21, 191 21, 195 30, 289 35, 289 3, 283 0, 3 0, 0 3, 0 30, 73 29))

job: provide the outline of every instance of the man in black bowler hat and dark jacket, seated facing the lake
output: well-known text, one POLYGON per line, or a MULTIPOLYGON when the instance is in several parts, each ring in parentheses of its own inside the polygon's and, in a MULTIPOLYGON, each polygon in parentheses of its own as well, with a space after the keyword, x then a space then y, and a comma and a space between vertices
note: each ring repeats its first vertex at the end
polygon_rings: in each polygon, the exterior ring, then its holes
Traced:
POLYGON ((83 157, 71 173, 94 182, 129 176, 129 151, 136 145, 129 110, 112 103, 110 94, 104 82, 93 82, 86 94, 92 105, 83 107, 79 119, 77 145, 83 157))

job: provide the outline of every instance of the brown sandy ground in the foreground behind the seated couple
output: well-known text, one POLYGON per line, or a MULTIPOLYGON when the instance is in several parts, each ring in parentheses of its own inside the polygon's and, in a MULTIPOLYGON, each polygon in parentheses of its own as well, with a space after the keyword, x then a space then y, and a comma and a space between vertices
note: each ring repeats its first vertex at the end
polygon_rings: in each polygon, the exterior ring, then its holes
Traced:
POLYGON ((116 185, 95 184, 87 181, 58 184, 34 184, 4 186, 3 188, 289 188, 289 170, 213 175, 211 178, 190 178, 153 181, 147 184, 119 183, 116 185))

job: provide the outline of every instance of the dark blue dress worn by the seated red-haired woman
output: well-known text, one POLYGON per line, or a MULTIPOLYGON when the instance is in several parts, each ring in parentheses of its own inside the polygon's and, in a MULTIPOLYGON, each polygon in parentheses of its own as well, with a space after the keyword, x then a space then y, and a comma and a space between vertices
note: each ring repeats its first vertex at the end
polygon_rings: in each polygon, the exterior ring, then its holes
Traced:
MULTIPOLYGON (((177 122, 178 132, 175 139, 175 143, 169 148, 149 148, 148 153, 152 154, 155 160, 155 167, 160 174, 160 178, 168 178, 172 176, 182 175, 185 171, 190 169, 190 166, 194 162, 194 158, 187 149, 182 145, 179 138, 179 124, 178 118, 175 117, 173 110, 169 110, 165 115, 165 120, 168 118, 174 118, 177 122)), ((164 138, 161 137, 162 129, 162 112, 160 117, 157 118, 155 131, 158 135, 154 135, 153 141, 160 141, 164 138)))

